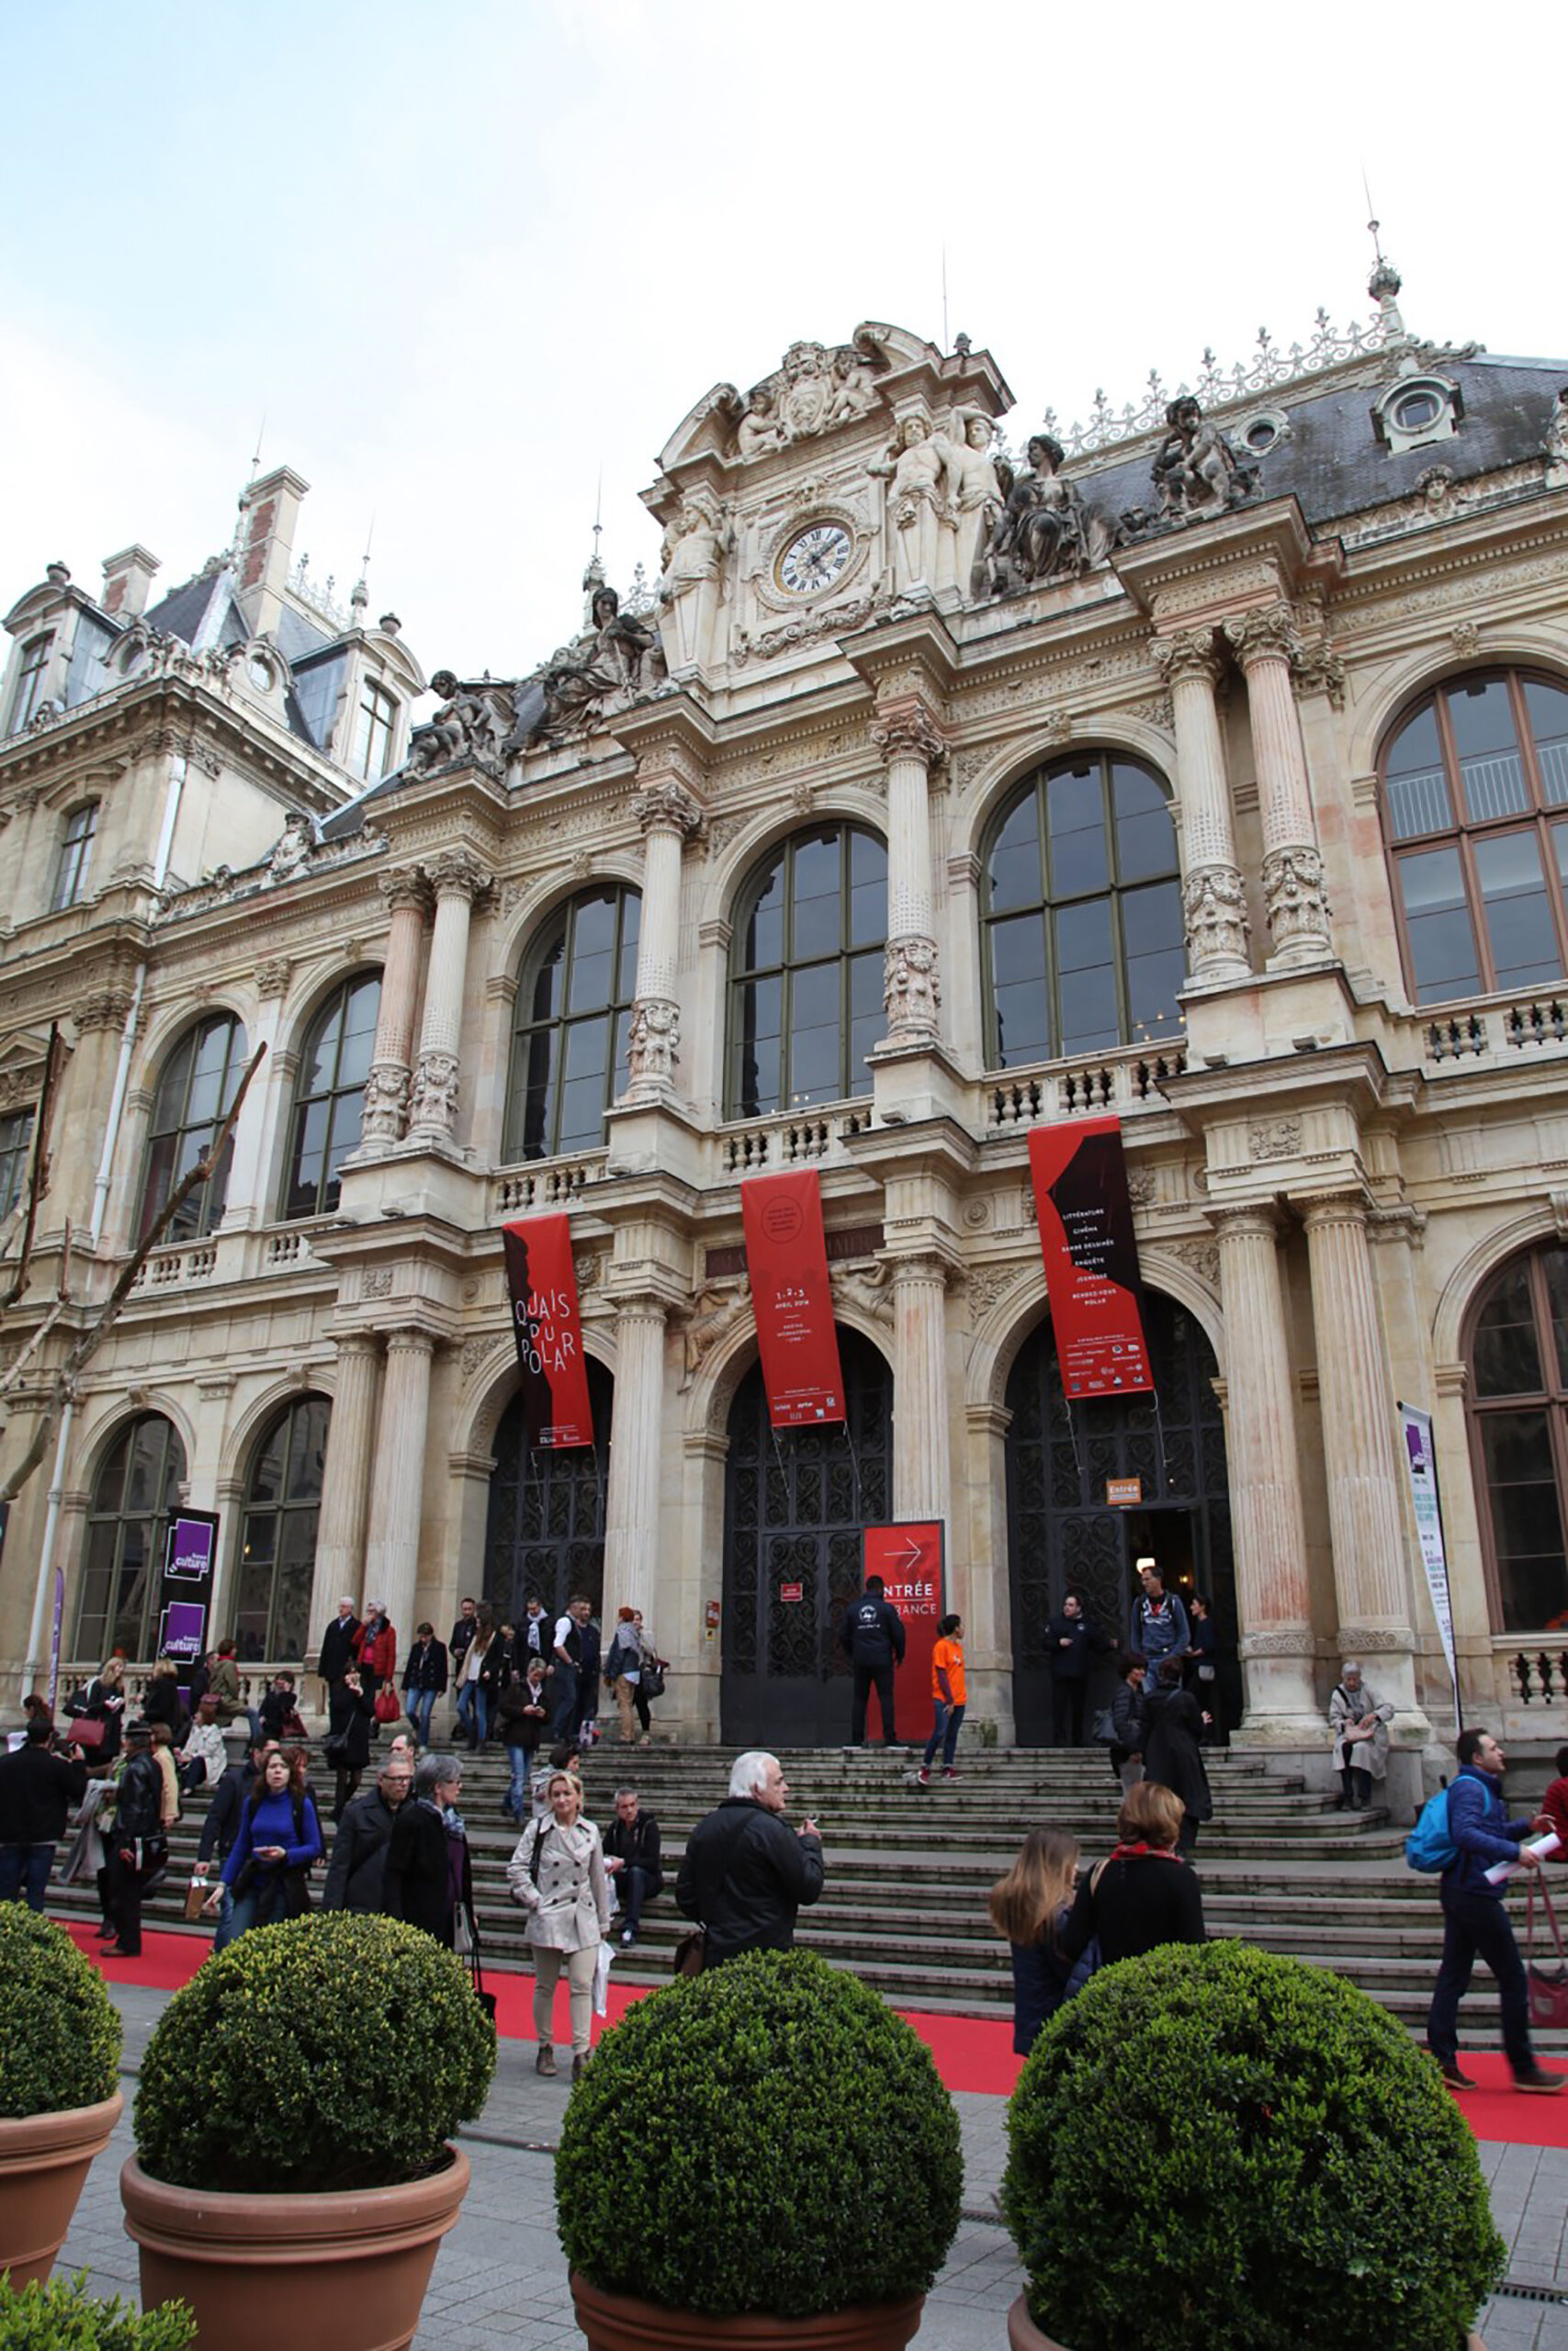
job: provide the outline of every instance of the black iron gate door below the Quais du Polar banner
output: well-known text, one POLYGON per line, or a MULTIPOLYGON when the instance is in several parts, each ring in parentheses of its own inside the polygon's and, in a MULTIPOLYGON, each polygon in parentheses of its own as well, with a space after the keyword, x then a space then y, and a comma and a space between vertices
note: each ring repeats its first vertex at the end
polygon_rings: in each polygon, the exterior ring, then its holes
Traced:
MULTIPOLYGON (((529 1451, 522 1396, 496 1429, 484 1526, 484 1599, 496 1622, 522 1622, 538 1596, 555 1617, 574 1592, 604 1613, 604 1495, 609 1493, 611 1375, 588 1357, 592 1448, 529 1451)), ((649 1627, 651 1629, 651 1627, 649 1627)), ((440 1627, 437 1627, 440 1632, 440 1627)))

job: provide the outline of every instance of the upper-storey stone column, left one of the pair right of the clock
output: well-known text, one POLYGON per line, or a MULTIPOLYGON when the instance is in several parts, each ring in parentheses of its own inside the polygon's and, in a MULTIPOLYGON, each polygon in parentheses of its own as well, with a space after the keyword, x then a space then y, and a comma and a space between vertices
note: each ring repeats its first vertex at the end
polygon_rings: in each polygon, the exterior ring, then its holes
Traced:
POLYGON ((1154 639, 1171 686, 1175 781, 1182 797, 1182 924, 1194 980, 1239 980, 1253 969, 1246 947, 1246 886, 1237 863, 1225 743, 1213 691, 1220 656, 1213 632, 1187 628, 1154 639))

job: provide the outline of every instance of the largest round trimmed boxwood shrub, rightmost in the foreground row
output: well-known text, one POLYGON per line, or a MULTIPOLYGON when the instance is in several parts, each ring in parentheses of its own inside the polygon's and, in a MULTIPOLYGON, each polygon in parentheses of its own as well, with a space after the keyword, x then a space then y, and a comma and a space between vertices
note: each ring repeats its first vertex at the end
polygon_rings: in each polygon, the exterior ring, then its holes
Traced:
POLYGON ((1001 2212, 1072 2351, 1460 2351, 1502 2276, 1476 2142, 1368 1994, 1239 1942, 1093 1975, 1009 2104, 1001 2212))

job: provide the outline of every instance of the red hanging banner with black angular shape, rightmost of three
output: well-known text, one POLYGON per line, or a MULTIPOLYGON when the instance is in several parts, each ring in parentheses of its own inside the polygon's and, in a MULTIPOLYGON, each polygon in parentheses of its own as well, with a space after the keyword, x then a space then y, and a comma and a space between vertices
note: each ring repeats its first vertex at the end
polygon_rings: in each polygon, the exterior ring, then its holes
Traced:
POLYGON ((1121 1119, 1032 1126, 1030 1178, 1065 1392, 1152 1389, 1121 1119))

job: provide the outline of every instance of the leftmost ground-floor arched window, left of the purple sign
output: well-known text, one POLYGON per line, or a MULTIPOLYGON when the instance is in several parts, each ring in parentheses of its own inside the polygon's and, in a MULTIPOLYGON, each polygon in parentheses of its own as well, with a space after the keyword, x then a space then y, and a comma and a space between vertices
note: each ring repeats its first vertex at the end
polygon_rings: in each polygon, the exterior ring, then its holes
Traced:
POLYGON ((141 1413, 103 1455, 87 1509, 78 1657, 155 1655, 165 1533, 183 1479, 186 1448, 162 1413, 141 1413))

